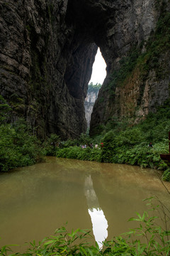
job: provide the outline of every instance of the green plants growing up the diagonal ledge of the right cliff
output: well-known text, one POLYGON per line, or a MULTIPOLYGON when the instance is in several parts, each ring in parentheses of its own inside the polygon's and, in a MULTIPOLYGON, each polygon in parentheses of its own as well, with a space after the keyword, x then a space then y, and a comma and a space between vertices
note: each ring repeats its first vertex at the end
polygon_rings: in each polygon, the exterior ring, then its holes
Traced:
MULTIPOLYGON (((165 67, 164 53, 169 52, 170 47, 170 13, 166 11, 166 3, 162 1, 160 17, 157 22, 155 31, 152 32, 149 40, 142 42, 140 46, 132 46, 127 55, 120 60, 120 67, 114 70, 111 75, 110 82, 105 86, 113 100, 115 95, 115 87, 123 86, 125 81, 133 75, 135 69, 140 70, 140 80, 145 82, 149 75, 149 71, 155 70, 157 80, 164 78, 167 74, 165 67), (144 53, 142 52, 145 46, 144 53)), ((142 94, 142 92, 141 92, 142 94)))

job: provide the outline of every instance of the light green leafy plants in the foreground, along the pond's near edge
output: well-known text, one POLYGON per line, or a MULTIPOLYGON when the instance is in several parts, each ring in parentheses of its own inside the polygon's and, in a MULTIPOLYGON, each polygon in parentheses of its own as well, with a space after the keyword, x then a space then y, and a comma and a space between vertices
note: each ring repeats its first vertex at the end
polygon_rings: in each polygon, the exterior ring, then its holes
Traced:
POLYGON ((170 231, 168 229, 169 210, 161 203, 161 207, 152 204, 152 198, 148 198, 148 205, 152 206, 152 214, 145 211, 142 215, 137 213, 136 218, 130 218, 129 221, 137 221, 140 225, 137 228, 130 229, 127 233, 113 238, 111 241, 105 240, 98 246, 91 245, 89 238, 91 235, 88 230, 77 229, 68 233, 66 228, 62 227, 55 231, 55 235, 45 238, 38 244, 30 242, 26 252, 12 252, 8 246, 0 248, 0 255, 79 255, 79 256, 158 256, 169 255, 170 252, 170 231), (153 214, 154 211, 162 213, 159 215, 163 220, 162 225, 157 225, 158 217, 153 214), (163 216, 163 218, 162 218, 163 216))

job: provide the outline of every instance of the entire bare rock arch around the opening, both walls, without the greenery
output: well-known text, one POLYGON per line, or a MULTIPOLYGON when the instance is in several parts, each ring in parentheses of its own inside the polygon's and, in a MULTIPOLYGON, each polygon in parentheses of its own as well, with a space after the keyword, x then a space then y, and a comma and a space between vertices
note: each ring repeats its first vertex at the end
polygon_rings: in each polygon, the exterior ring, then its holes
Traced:
POLYGON ((134 46, 147 52, 165 10, 168 0, 0 0, 0 93, 13 110, 11 122, 24 117, 40 137, 85 132, 84 99, 97 46, 108 75, 91 134, 111 117, 137 122, 154 111, 169 97, 168 50, 157 56, 164 64, 159 80, 157 68, 142 73, 144 80, 136 67, 122 87, 108 85, 134 46))

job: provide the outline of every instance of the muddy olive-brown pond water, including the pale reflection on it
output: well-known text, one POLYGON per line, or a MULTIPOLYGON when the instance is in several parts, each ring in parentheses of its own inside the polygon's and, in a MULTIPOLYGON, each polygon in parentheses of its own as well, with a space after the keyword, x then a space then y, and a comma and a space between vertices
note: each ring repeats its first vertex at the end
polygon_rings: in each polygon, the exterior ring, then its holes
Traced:
MULTIPOLYGON (((100 242, 132 228, 142 199, 169 193, 152 169, 48 157, 0 175, 0 245, 39 241, 63 225, 91 229, 100 242), (67 225, 65 224, 67 223, 67 225)), ((164 183, 169 189, 169 183, 164 183)), ((136 225, 136 224, 135 224, 136 225)))

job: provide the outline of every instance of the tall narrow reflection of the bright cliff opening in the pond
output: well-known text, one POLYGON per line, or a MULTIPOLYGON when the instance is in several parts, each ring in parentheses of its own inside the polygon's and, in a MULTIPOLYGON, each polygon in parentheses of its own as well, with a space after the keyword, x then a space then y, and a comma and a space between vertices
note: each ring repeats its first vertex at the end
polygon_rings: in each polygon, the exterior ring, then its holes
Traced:
POLYGON ((84 193, 89 208, 88 212, 91 216, 94 238, 100 247, 101 243, 108 237, 108 221, 106 220, 103 210, 99 206, 90 174, 85 178, 84 193))

